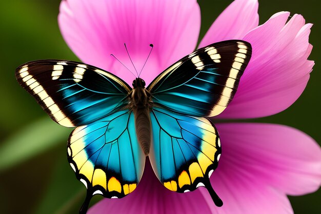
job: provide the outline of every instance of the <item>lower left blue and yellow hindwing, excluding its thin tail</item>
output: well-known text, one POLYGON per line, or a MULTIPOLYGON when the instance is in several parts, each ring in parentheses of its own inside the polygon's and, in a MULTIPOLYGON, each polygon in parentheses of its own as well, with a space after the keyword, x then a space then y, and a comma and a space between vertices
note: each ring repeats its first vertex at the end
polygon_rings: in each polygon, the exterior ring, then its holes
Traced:
POLYGON ((142 178, 145 155, 137 142, 134 115, 126 110, 77 127, 67 151, 77 179, 90 196, 123 198, 142 178))

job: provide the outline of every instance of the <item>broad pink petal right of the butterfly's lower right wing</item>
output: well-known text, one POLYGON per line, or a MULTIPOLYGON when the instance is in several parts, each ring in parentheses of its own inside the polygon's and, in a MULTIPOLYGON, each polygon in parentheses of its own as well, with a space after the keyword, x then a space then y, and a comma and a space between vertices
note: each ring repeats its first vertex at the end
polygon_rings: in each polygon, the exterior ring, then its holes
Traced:
MULTIPOLYGON (((216 127, 222 157, 211 177, 215 189, 219 187, 216 182, 227 186, 254 182, 263 190, 273 187, 284 194, 300 195, 320 187, 321 148, 309 135, 273 124, 226 123, 216 127)), ((220 195, 230 190, 217 191, 220 195)), ((243 197, 248 197, 251 191, 243 192, 243 197)), ((271 200, 268 195, 267 199, 271 200)))

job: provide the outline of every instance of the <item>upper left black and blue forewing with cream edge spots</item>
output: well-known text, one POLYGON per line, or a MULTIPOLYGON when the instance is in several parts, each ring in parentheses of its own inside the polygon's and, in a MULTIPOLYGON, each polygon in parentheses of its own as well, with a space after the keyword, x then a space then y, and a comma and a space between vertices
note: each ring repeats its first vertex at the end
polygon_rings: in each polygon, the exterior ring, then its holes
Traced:
POLYGON ((15 75, 51 119, 67 127, 89 124, 125 107, 131 91, 117 76, 71 61, 29 62, 15 75))

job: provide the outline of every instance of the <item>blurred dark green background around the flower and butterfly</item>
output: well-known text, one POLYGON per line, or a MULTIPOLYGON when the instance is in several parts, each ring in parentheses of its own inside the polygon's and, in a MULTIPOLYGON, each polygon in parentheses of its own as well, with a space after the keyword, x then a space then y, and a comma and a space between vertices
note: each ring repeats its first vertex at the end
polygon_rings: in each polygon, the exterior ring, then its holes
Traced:
MULTIPOLYGON (((215 17, 232 1, 198 1, 203 37, 215 17)), ((77 60, 57 25, 59 0, 13 0, 0 3, 0 212, 77 213, 85 188, 75 179, 66 158, 71 129, 52 122, 34 99, 16 82, 15 68, 39 59, 77 60)), ((298 128, 320 142, 320 35, 319 2, 260 1, 260 24, 279 11, 303 14, 314 23, 310 59, 316 61, 304 93, 287 110, 263 119, 298 128)), ((101 199, 95 197, 94 201, 101 199)), ((290 197, 295 213, 320 213, 321 190, 290 197)), ((231 213, 237 214, 237 213, 231 213)))

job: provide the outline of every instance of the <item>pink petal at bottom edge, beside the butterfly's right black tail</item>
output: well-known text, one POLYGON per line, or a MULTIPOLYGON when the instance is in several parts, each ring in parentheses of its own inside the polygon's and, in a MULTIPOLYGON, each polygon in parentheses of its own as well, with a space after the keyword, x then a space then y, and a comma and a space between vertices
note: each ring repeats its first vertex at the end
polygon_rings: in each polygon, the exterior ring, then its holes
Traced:
MULTIPOLYGON (((233 169, 233 168, 232 168, 233 169)), ((215 173, 215 172, 214 172, 215 173)), ((222 207, 215 207, 204 188, 200 188, 211 209, 218 214, 292 214, 287 196, 255 180, 240 178, 237 174, 212 174, 212 185, 223 200, 222 207)))

